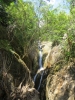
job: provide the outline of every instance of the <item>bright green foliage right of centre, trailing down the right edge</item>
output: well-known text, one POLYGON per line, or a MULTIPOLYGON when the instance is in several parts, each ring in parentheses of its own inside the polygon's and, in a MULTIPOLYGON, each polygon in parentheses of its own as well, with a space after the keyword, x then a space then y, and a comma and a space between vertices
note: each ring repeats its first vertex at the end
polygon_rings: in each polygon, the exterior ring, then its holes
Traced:
POLYGON ((58 41, 64 45, 65 59, 68 61, 74 58, 74 43, 75 43, 75 10, 71 9, 71 14, 67 15, 65 12, 56 13, 54 10, 49 10, 43 14, 44 25, 40 29, 41 38, 44 40, 58 41), (63 40, 64 34, 68 37, 63 40), (62 43, 64 41, 64 44, 62 43))

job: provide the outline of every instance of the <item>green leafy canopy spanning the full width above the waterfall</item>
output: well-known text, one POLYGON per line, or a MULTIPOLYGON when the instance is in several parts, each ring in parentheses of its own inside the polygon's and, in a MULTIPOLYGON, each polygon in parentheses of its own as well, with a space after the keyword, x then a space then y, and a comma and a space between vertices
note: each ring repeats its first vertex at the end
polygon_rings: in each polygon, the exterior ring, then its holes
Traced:
MULTIPOLYGON (((14 2, 1 0, 2 5, 8 5, 3 8, 0 6, 0 25, 1 36, 0 39, 5 39, 9 42, 11 47, 24 55, 28 52, 29 47, 36 42, 39 37, 41 40, 58 41, 62 43, 63 35, 68 34, 67 44, 65 43, 65 55, 67 59, 73 57, 74 52, 74 37, 75 37, 75 8, 71 9, 71 13, 67 15, 65 12, 59 12, 58 9, 50 10, 49 7, 40 0, 40 5, 37 9, 38 15, 34 11, 34 6, 31 2, 23 2, 18 0, 17 4, 14 2), (42 23, 42 24, 41 24, 42 23), (15 29, 13 26, 15 24, 15 29), (39 26, 41 24, 41 26, 39 26), (9 26, 4 28, 6 25, 9 26), (10 26, 12 26, 10 28, 10 26), (10 30, 10 31, 9 31, 10 30), (9 34, 8 34, 9 33, 9 34), (9 35, 11 40, 9 39, 9 35), (66 49, 67 48, 67 49, 66 49), (68 51, 67 51, 68 50, 68 51)), ((4 40, 3 40, 4 41, 4 40)), ((1 41, 1 43, 3 43, 1 41)), ((4 44, 3 44, 4 45, 4 44)))

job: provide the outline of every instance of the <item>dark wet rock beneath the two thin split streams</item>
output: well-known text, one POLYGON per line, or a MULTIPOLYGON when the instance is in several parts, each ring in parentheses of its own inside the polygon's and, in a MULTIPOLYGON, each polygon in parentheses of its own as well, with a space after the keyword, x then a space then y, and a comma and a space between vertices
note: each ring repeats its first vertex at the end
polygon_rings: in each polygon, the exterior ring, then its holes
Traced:
POLYGON ((41 70, 37 73, 37 76, 36 76, 35 88, 39 91, 40 100, 46 100, 46 78, 49 74, 49 71, 50 69, 48 68, 41 70), (42 80, 41 80, 41 76, 42 76, 42 80), (40 80, 41 80, 41 84, 40 84, 40 80))

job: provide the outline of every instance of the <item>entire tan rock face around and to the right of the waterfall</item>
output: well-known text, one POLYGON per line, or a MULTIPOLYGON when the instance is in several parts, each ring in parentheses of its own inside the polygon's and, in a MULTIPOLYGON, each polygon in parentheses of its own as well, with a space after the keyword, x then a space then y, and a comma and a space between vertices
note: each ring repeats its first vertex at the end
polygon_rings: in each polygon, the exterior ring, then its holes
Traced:
MULTIPOLYGON (((60 45, 54 45, 53 47, 52 43, 49 42, 42 42, 41 45, 43 45, 43 58, 45 54, 47 57, 44 62, 44 74, 39 88, 40 100, 75 100, 75 63, 65 66, 63 62, 60 62, 61 60, 64 60, 62 59, 64 55, 62 54, 62 48, 60 45), (53 67, 55 67, 57 71, 58 67, 61 68, 59 68, 58 72, 52 73, 51 71, 55 70, 53 67)), ((33 48, 33 50, 34 49, 35 48, 33 48)), ((37 62, 37 64, 34 64, 34 68, 37 68, 37 71, 39 69, 37 57, 38 48, 35 53, 33 53, 33 50, 32 52, 30 51, 30 57, 33 62, 37 62)), ((37 75, 35 82, 36 89, 39 86, 41 74, 42 73, 40 72, 37 75)))

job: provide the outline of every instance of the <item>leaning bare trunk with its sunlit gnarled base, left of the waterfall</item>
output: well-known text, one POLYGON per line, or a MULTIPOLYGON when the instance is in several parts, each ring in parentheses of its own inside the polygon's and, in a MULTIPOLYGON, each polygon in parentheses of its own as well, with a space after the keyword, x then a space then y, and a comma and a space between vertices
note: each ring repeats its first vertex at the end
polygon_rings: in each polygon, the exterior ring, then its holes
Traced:
POLYGON ((20 83, 19 87, 16 88, 14 92, 11 93, 12 100, 39 100, 39 93, 34 88, 34 82, 31 78, 31 72, 25 62, 21 59, 21 57, 13 50, 10 52, 15 56, 16 60, 24 67, 26 70, 26 84, 24 84, 24 80, 20 83))

